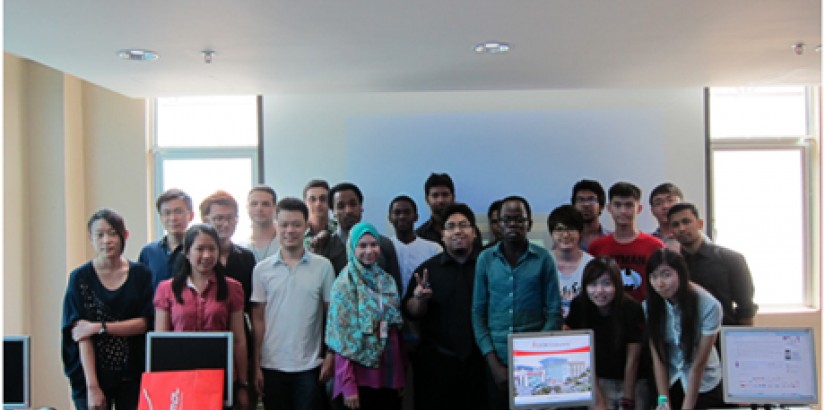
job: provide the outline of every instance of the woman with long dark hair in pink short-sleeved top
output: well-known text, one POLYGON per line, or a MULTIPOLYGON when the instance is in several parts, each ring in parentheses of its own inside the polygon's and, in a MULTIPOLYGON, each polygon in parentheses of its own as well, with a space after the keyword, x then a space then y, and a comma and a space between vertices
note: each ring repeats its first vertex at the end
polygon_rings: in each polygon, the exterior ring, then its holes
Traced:
POLYGON ((246 410, 246 336, 244 294, 240 282, 216 268, 218 233, 210 225, 194 225, 183 239, 185 259, 172 279, 155 291, 155 330, 158 332, 226 332, 234 340, 235 408, 246 410))

